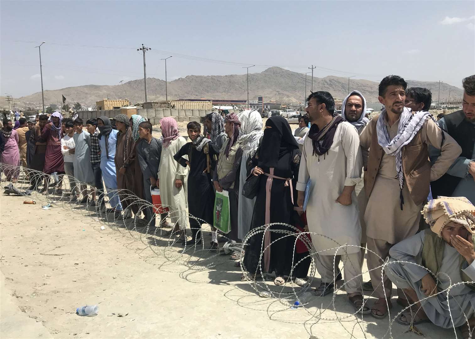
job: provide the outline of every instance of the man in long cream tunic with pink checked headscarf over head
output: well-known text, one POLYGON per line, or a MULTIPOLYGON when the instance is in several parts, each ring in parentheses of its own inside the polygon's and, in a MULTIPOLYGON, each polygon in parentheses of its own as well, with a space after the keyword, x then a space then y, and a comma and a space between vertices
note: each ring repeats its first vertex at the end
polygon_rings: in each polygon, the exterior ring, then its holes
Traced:
POLYGON ((160 125, 163 146, 158 169, 158 186, 160 187, 161 203, 169 208, 168 217, 174 226, 171 232, 176 232, 178 229, 190 228, 183 186, 185 180, 188 179, 189 169, 180 166, 180 163, 173 159, 173 156, 186 144, 186 140, 180 136, 178 124, 173 117, 161 119, 160 125))

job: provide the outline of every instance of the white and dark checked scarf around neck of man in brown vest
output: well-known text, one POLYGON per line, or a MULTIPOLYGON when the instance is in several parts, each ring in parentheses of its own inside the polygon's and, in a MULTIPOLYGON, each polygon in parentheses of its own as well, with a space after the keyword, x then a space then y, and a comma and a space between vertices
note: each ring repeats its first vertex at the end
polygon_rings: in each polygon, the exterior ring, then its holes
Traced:
MULTIPOLYGON (((428 119, 435 121, 432 114, 429 112, 415 112, 413 113, 409 108, 404 107, 401 113, 398 125, 398 134, 390 140, 389 133, 384 123, 386 117, 386 109, 383 109, 376 124, 376 132, 378 135, 378 143, 388 155, 396 156, 396 172, 398 173, 399 186, 402 189, 404 186, 404 173, 402 172, 402 148, 406 146, 412 138, 419 132, 424 122, 428 119)), ((438 126, 438 125, 437 125, 438 126)))

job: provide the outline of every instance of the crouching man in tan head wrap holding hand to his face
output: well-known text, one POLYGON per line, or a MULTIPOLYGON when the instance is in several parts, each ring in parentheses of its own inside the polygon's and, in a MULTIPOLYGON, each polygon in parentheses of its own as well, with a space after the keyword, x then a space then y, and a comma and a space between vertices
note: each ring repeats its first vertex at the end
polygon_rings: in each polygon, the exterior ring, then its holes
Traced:
POLYGON ((475 207, 465 197, 438 197, 422 214, 430 229, 389 251, 386 274, 407 297, 398 299, 408 311, 396 321, 458 327, 468 338, 475 325, 475 207))

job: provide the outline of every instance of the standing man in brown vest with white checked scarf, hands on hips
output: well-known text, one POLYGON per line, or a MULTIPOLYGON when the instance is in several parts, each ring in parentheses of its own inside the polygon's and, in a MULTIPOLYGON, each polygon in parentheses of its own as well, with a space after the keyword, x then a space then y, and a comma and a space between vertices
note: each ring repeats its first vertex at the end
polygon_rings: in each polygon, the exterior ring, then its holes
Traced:
POLYGON ((363 154, 369 149, 368 158, 363 159, 368 198, 364 220, 368 270, 378 298, 371 309, 375 318, 386 317, 392 307, 392 284, 386 276, 381 283, 380 266, 392 245, 416 234, 430 181, 440 178, 461 152, 447 133, 444 140, 430 113, 404 107, 406 88, 406 81, 397 75, 380 82, 378 99, 385 108, 360 135, 363 154), (432 167, 429 145, 441 151, 432 167))

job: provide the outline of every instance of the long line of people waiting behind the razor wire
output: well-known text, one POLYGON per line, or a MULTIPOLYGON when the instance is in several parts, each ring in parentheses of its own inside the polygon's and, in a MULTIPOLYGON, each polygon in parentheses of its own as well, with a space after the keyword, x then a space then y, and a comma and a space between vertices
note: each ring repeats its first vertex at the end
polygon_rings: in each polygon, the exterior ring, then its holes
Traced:
POLYGON ((50 122, 19 119, 17 129, 5 121, 6 189, 14 191, 21 163, 42 173, 30 173, 30 190, 60 189, 64 174, 69 190, 61 193, 71 200, 95 206, 107 195, 104 213, 169 227, 164 235, 178 243, 201 244, 209 224, 211 251, 223 238, 246 240, 232 254, 243 264, 242 280, 274 273, 276 285, 305 285, 310 243, 321 276, 316 296, 344 279, 355 312, 381 319, 394 283, 407 307, 399 323, 460 327, 468 338, 468 324, 475 325, 475 75, 463 80, 463 109, 439 121, 428 112, 430 91, 407 87, 397 75, 382 79, 384 109, 371 119, 359 91, 343 100, 341 115, 330 93, 313 92, 294 133, 279 115, 263 129, 255 110, 210 113, 203 132, 188 123, 189 142, 172 117, 161 119, 160 139, 140 115, 117 115, 116 128, 105 116, 84 123, 59 112, 50 122), (153 206, 156 188, 165 209, 153 206), (214 227, 217 192, 228 196, 225 234, 214 227), (369 282, 362 280, 366 251, 369 282), (372 291, 374 303, 363 291, 372 291))

